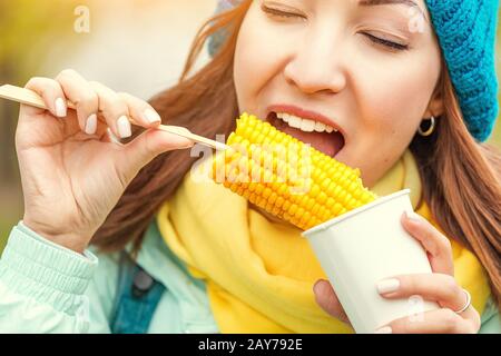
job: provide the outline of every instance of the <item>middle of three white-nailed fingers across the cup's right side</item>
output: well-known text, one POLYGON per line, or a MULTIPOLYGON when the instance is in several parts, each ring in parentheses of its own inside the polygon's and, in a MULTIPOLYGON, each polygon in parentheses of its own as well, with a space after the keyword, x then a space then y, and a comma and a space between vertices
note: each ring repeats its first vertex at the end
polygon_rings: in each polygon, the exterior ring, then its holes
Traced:
POLYGON ((454 277, 443 274, 396 276, 380 280, 376 288, 380 295, 387 299, 402 299, 419 295, 452 310, 461 309, 468 301, 466 294, 454 277))

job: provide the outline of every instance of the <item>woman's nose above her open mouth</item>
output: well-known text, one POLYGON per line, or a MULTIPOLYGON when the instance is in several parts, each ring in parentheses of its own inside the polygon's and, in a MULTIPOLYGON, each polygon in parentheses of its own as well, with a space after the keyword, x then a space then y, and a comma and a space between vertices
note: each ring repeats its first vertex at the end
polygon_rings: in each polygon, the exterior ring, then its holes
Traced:
POLYGON ((306 38, 284 68, 287 83, 307 95, 342 91, 346 86, 342 51, 341 40, 328 33, 306 38))

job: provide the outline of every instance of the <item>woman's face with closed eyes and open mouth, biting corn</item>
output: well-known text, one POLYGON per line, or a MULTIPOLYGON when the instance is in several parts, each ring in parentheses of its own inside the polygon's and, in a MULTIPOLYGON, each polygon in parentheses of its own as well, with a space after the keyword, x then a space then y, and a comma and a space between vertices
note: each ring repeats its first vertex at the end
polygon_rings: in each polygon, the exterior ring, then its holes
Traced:
POLYGON ((371 187, 441 113, 440 56, 423 0, 255 0, 235 53, 238 106, 371 187))

